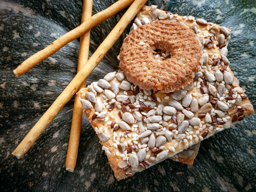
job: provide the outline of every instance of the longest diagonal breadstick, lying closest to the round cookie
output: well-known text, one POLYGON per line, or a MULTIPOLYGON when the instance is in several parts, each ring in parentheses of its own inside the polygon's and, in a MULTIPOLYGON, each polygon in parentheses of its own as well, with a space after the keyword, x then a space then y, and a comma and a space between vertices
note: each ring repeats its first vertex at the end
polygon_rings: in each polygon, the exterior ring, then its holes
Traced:
POLYGON ((124 16, 119 20, 117 25, 108 34, 106 39, 101 43, 98 49, 90 57, 85 66, 76 74, 74 79, 67 85, 63 92, 58 96, 54 103, 49 107, 49 109, 43 114, 39 121, 34 125, 34 127, 29 131, 25 138, 20 142, 18 147, 12 152, 18 159, 20 159, 24 154, 30 149, 30 147, 35 143, 36 139, 45 130, 45 128, 52 122, 54 117, 58 112, 64 107, 64 105, 72 98, 72 96, 77 92, 79 87, 82 85, 84 80, 91 74, 93 69, 99 64, 99 62, 106 55, 108 50, 116 42, 116 40, 124 32, 124 29, 131 22, 131 20, 136 16, 139 10, 143 7, 147 0, 135 0, 129 9, 124 13, 124 16))

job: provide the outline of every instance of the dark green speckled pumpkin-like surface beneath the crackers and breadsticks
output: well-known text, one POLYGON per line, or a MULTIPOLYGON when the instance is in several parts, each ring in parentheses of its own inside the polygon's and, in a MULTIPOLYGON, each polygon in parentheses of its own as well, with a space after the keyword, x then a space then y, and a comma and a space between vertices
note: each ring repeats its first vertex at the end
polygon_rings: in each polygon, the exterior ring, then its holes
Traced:
MULTIPOLYGON (((115 0, 95 0, 93 13, 113 2, 115 0)), ((232 30, 228 47, 231 69, 255 109, 255 0, 157 0, 147 4, 229 27, 232 30)), ((117 182, 86 118, 76 169, 73 173, 65 171, 72 99, 22 159, 11 155, 76 74, 79 40, 19 78, 12 70, 78 26, 81 11, 81 0, 0 0, 0 191, 255 191, 255 114, 203 141, 193 166, 166 160, 117 182)), ((123 13, 92 29, 91 53, 123 13)), ((117 55, 124 37, 125 34, 110 49, 88 83, 117 69, 117 55)))

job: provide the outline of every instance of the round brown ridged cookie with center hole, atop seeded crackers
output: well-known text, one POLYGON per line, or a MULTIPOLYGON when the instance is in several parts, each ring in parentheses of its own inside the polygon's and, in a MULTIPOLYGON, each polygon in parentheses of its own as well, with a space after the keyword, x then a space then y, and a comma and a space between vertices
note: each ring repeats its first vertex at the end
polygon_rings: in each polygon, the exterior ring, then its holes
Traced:
POLYGON ((128 35, 119 59, 124 74, 141 89, 164 93, 189 85, 202 64, 202 48, 196 34, 179 22, 159 20, 138 27, 128 35), (154 50, 169 51, 159 62, 154 50))

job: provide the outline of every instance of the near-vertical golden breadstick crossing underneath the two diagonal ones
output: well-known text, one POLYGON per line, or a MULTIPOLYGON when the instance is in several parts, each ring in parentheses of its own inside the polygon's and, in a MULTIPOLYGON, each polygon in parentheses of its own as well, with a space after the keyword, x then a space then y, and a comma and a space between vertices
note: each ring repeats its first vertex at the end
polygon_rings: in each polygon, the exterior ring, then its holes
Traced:
MULTIPOLYGON (((90 18, 91 16, 92 16, 92 0, 83 0, 83 12, 82 12, 81 23, 83 23, 86 19, 90 18)), ((79 49, 77 71, 80 71, 80 69, 88 61, 89 46, 90 46, 90 30, 80 38, 80 49, 79 49)), ((84 81, 81 88, 83 87, 86 87, 86 80, 84 81)), ((70 141, 68 143, 67 157, 66 157, 66 170, 70 172, 73 172, 76 167, 76 159, 77 159, 77 153, 78 153, 78 147, 79 147, 82 122, 83 122, 83 106, 78 96, 75 95, 72 125, 71 125, 71 131, 70 131, 70 141)))

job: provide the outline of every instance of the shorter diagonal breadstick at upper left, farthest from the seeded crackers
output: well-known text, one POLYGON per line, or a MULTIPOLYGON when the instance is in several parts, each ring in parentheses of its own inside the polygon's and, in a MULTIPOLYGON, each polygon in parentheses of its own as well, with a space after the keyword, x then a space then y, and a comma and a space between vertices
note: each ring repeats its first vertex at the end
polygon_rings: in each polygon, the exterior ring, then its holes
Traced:
POLYGON ((75 29, 69 31, 41 51, 38 51, 36 54, 27 58, 13 71, 13 73, 16 76, 25 74, 27 71, 29 71, 29 69, 54 54, 56 51, 61 49, 61 47, 67 45, 69 42, 75 40, 76 38, 79 38, 84 33, 86 33, 86 31, 90 30, 92 27, 99 24, 100 22, 115 15, 116 13, 130 5, 133 1, 134 0, 119 0, 115 2, 107 9, 95 14, 90 19, 85 20, 85 22, 83 22, 79 27, 76 27, 75 29))

